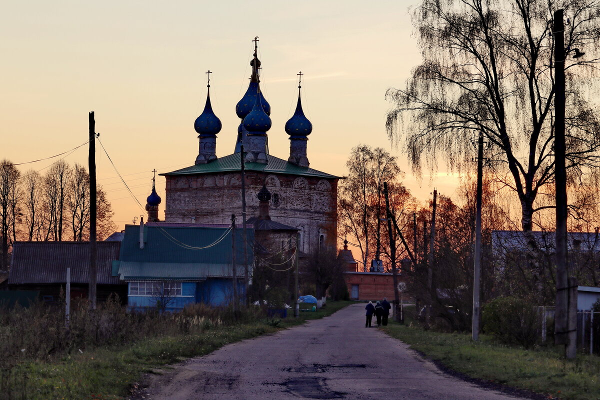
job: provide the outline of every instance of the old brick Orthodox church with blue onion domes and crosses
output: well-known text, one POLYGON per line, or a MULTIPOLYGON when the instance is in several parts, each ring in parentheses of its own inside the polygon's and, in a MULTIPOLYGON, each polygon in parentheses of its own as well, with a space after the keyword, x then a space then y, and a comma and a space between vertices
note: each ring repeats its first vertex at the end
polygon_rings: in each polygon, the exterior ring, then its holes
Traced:
MULTIPOLYGON (((301 251, 313 254, 320 246, 335 246, 337 242, 337 182, 340 178, 309 167, 307 143, 313 126, 302 110, 301 81, 295 113, 284 127, 290 139, 289 156, 285 160, 269 154, 267 133, 271 130, 271 106, 260 91, 261 63, 256 42, 250 62, 250 84, 235 107, 241 122, 233 154, 216 155, 221 121, 212 110, 209 79, 206 106, 194 122, 199 139, 194 164, 159 174, 166 178, 164 222, 229 224, 235 214, 241 224, 243 160, 248 221, 260 215, 264 218, 265 201, 268 201, 267 218, 296 228, 301 251)), ((161 199, 154 184, 147 202, 148 221, 159 221, 161 199)))

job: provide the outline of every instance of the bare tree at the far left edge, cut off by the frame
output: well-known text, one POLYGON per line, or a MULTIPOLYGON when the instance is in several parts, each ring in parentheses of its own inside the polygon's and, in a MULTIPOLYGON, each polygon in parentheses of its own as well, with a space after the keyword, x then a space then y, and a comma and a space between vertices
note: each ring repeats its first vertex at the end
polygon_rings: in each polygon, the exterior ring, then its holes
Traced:
POLYGON ((8 254, 15 239, 15 220, 19 201, 20 172, 8 160, 0 163, 0 240, 2 257, 0 270, 8 269, 8 254))

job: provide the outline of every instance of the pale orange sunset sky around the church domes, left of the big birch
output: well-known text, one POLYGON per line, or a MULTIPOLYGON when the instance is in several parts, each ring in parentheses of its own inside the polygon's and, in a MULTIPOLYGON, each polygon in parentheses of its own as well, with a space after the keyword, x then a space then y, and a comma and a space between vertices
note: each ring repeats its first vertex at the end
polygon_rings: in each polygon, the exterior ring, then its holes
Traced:
MULTIPOLYGON (((440 170, 419 183, 385 133, 384 96, 400 88, 420 60, 408 8, 393 1, 8 2, 0 16, 0 158, 23 163, 86 142, 88 112, 127 184, 145 205, 152 169, 194 163, 193 123, 206 98, 223 122, 217 156, 231 154, 239 119, 235 104, 250 77, 251 40, 259 36, 261 87, 271 104, 269 149, 287 159, 284 124, 293 114, 296 74, 313 123, 311 167, 344 175, 359 143, 398 155, 404 184, 420 200, 433 187, 452 195, 457 179, 440 170)), ((53 161, 20 166, 42 170, 53 161)), ((87 166, 87 146, 65 161, 87 166)), ((119 228, 145 215, 97 148, 98 181, 119 228)), ((164 178, 157 179, 164 200, 164 178)), ((164 201, 160 216, 164 217, 164 201)))

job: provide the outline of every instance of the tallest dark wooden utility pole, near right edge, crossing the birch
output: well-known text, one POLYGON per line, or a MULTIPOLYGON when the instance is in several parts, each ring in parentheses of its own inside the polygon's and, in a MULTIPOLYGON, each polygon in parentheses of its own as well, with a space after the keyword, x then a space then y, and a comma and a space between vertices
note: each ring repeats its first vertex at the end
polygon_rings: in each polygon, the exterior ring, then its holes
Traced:
MULTIPOLYGON (((566 143, 565 143, 565 23, 564 10, 554 11, 554 177, 556 183, 556 317, 554 338, 556 344, 565 345, 565 357, 575 358, 577 352, 577 314, 572 314, 572 302, 577 301, 577 291, 569 290, 569 264, 567 253, 567 197, 566 197, 566 143)), ((576 308, 575 308, 576 309, 576 308)))

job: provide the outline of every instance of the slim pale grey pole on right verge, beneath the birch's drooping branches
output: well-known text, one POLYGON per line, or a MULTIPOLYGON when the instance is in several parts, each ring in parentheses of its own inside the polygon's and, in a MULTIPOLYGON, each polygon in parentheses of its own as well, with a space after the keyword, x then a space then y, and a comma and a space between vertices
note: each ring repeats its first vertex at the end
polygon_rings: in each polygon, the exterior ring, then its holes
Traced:
POLYGON ((473 267, 473 324, 471 338, 479 340, 479 283, 481 281, 481 196, 484 169, 484 133, 477 140, 477 200, 475 205, 475 266, 473 267))

